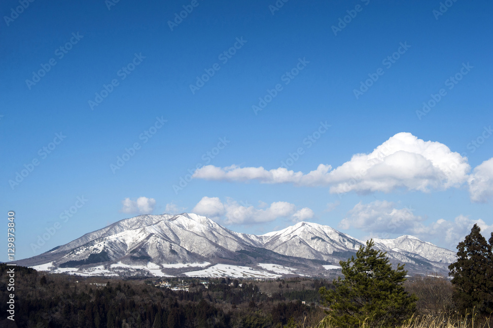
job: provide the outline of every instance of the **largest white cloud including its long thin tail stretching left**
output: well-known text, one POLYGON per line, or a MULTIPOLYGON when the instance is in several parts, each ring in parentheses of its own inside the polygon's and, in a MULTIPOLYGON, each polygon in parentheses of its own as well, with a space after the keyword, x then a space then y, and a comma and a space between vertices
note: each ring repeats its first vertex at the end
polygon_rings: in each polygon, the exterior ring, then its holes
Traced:
POLYGON ((390 137, 369 154, 353 155, 351 160, 332 169, 319 164, 304 174, 284 167, 206 165, 193 177, 206 180, 293 183, 297 186, 329 186, 331 193, 391 192, 395 189, 429 192, 458 187, 467 181, 467 158, 436 141, 424 141, 408 132, 390 137))

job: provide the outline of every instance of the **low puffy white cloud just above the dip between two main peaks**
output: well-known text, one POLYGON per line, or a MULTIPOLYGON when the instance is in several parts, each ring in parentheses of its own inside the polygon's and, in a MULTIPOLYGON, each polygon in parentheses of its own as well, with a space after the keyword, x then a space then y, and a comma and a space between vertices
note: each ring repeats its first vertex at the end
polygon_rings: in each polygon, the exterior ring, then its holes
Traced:
POLYGON ((224 224, 254 224, 274 221, 277 218, 287 218, 293 222, 303 221, 314 217, 314 212, 308 208, 296 210, 296 206, 285 201, 276 201, 270 205, 263 202, 255 208, 247 202, 238 202, 227 198, 222 202, 218 197, 203 197, 192 212, 205 215, 224 224))

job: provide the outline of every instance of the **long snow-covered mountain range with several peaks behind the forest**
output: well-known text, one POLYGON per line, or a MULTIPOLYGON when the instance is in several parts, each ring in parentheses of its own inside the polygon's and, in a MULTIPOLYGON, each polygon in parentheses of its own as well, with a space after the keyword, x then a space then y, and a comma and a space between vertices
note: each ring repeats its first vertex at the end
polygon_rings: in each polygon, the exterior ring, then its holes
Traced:
MULTIPOLYGON (((405 263, 410 273, 444 273, 455 261, 453 251, 413 236, 374 241, 391 262, 405 263)), ((248 271, 248 276, 258 272, 263 277, 286 272, 323 276, 333 273, 328 269, 346 261, 362 244, 345 233, 309 222, 257 236, 226 229, 192 213, 141 215, 18 264, 86 275, 228 275, 248 271)))

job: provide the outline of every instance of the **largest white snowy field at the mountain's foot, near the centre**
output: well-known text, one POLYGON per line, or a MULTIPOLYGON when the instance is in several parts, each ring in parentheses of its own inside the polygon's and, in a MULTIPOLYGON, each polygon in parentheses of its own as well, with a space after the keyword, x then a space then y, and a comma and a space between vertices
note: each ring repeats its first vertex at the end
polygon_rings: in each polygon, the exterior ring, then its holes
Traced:
POLYGON ((248 266, 216 264, 200 271, 185 272, 189 277, 232 277, 232 278, 263 278, 281 277, 280 274, 252 269, 248 266))

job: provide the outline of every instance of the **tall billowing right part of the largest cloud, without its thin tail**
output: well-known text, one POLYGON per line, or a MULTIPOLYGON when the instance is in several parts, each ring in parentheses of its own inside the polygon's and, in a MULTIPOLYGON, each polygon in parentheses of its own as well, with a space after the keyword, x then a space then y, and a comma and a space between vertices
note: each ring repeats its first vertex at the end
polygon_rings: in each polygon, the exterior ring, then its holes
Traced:
POLYGON ((401 132, 370 154, 356 154, 334 169, 330 191, 445 190, 463 184, 469 170, 467 158, 446 145, 401 132))

